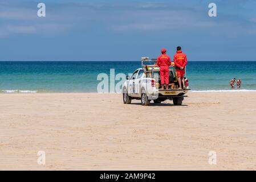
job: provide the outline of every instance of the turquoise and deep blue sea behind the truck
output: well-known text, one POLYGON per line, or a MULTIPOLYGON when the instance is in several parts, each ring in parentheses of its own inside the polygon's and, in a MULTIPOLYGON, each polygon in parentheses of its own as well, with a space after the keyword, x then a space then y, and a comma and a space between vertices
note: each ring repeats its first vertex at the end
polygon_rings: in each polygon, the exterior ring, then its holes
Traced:
MULTIPOLYGON (((139 67, 140 61, 0 61, 0 92, 97 92, 100 73, 128 75, 139 67)), ((242 91, 256 90, 256 61, 190 61, 186 71, 195 92, 230 90, 234 77, 242 91)))

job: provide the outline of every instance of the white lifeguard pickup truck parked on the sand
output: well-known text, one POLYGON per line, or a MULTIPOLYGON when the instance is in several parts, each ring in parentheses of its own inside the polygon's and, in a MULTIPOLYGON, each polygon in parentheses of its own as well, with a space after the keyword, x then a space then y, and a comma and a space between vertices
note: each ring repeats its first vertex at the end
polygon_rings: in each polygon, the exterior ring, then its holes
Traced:
POLYGON ((184 94, 188 93, 188 79, 185 78, 185 89, 177 89, 178 81, 177 75, 175 72, 174 64, 169 67, 169 81, 170 81, 170 89, 165 89, 160 87, 160 68, 153 65, 145 65, 146 61, 154 61, 149 60, 148 57, 141 58, 141 66, 142 68, 136 69, 133 72, 132 76, 127 76, 127 80, 123 85, 123 101, 124 104, 131 104, 132 100, 141 100, 141 105, 148 106, 150 105, 151 100, 154 101, 155 104, 160 104, 165 100, 173 100, 174 105, 182 105, 182 101, 184 100, 184 94))

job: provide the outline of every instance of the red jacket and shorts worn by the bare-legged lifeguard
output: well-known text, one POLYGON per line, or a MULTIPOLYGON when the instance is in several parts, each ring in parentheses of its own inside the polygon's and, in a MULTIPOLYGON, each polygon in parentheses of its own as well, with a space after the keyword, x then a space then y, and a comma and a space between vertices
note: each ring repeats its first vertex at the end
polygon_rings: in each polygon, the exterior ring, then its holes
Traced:
POLYGON ((182 51, 177 51, 177 53, 173 57, 173 61, 176 67, 176 73, 178 77, 184 77, 184 69, 186 67, 186 63, 188 63, 188 61, 186 60, 186 54, 182 53, 182 51), (183 67, 183 69, 180 69, 180 67, 183 67))

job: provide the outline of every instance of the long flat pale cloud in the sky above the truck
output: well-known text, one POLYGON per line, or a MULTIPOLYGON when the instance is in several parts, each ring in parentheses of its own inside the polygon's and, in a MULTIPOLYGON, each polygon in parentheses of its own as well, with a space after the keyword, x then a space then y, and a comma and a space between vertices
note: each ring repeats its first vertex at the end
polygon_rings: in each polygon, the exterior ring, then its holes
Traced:
MULTIPOLYGON (((150 6, 152 7, 152 5, 150 6)), ((121 20, 113 24, 114 31, 168 31, 168 30, 193 30, 195 28, 210 28, 216 22, 201 18, 197 13, 180 10, 146 10, 133 11, 131 15, 119 16, 121 20)))

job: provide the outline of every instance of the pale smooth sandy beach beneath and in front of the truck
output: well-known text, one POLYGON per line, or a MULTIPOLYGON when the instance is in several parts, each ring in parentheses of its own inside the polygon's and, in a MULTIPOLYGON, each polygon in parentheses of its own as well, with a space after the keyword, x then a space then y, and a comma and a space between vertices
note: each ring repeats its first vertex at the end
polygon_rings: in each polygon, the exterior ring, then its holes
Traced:
POLYGON ((141 106, 121 94, 0 94, 0 169, 255 170, 256 93, 188 96, 141 106))

